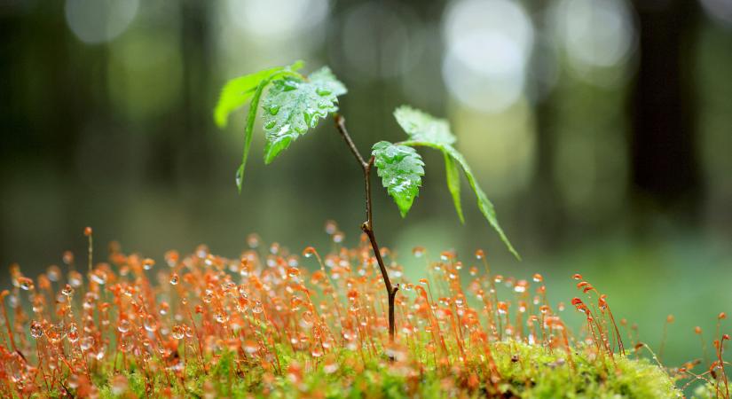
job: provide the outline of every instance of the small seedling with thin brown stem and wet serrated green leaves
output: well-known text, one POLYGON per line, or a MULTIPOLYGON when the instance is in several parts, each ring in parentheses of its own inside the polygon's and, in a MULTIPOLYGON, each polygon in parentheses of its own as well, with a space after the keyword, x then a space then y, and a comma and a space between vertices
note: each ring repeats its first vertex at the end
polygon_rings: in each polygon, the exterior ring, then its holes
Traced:
POLYGON ((214 120, 220 128, 225 128, 229 114, 240 106, 250 103, 247 124, 244 129, 244 151, 241 154, 241 164, 236 170, 236 185, 241 192, 256 113, 265 89, 267 92, 262 105, 266 139, 264 163, 271 163, 298 137, 305 135, 309 129, 315 128, 320 119, 326 118, 329 114, 333 115, 336 129, 363 170, 366 222, 361 224, 361 230, 368 236, 388 293, 391 341, 394 340, 395 334, 394 299, 399 287, 391 284, 389 272, 384 265, 374 233, 371 200, 371 169, 374 166, 378 176, 382 178, 384 188, 396 202, 402 217, 405 217, 419 194, 421 176, 424 176, 424 162, 415 148, 429 147, 439 151, 445 160, 447 188, 453 196, 453 203, 460 222, 464 223, 465 219, 460 202, 460 169, 462 169, 470 188, 476 194, 477 206, 481 213, 491 224, 493 230, 498 233, 508 250, 519 258, 498 223, 493 204, 478 185, 468 162, 453 146, 456 137, 453 136, 447 121, 437 119, 410 106, 400 106, 394 111, 394 117, 397 119, 398 125, 404 129, 407 138, 397 143, 380 141, 374 144, 371 156, 366 159, 353 144, 348 129, 346 129, 345 119, 337 113, 338 98, 346 94, 345 85, 335 78, 327 66, 307 76, 298 72, 302 67, 303 62, 297 61, 290 66, 265 69, 227 82, 216 105, 214 120))

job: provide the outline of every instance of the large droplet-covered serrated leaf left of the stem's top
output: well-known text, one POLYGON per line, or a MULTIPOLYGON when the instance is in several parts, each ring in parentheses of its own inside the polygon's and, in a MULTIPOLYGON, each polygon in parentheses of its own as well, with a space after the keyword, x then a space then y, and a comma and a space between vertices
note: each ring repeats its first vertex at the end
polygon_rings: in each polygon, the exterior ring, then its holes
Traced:
POLYGON ((264 162, 271 163, 297 137, 315 128, 320 118, 338 110, 346 88, 327 67, 307 79, 286 76, 272 82, 264 100, 264 162))

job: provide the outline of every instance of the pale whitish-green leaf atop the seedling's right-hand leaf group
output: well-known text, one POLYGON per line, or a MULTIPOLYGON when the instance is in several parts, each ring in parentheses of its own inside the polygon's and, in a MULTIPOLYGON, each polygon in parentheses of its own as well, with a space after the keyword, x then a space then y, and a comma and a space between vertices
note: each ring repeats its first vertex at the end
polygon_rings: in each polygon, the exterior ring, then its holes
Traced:
POLYGON ((450 131, 450 124, 429 113, 424 113, 411 106, 399 106, 394 111, 399 126, 414 141, 426 141, 436 145, 452 145, 456 138, 450 131))

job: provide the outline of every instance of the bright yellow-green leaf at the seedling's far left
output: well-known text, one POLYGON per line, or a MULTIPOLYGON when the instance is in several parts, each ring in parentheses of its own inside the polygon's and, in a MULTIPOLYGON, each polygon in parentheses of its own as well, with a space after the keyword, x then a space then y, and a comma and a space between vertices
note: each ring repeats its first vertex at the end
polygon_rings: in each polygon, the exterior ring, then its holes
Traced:
POLYGON ((229 114, 238 109, 240 106, 247 104, 249 98, 254 96, 256 86, 259 82, 270 77, 284 69, 282 66, 264 69, 254 74, 247 74, 226 82, 221 95, 218 97, 218 103, 214 109, 214 121, 216 126, 224 129, 229 120, 229 114))

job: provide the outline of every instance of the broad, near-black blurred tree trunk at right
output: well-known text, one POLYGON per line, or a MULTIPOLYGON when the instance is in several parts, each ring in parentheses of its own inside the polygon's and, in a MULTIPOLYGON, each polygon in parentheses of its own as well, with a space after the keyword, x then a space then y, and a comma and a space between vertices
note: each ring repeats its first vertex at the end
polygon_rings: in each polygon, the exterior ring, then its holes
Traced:
POLYGON ((635 0, 634 8, 640 63, 631 99, 631 192, 641 207, 692 219, 701 186, 690 76, 697 2, 635 0))

